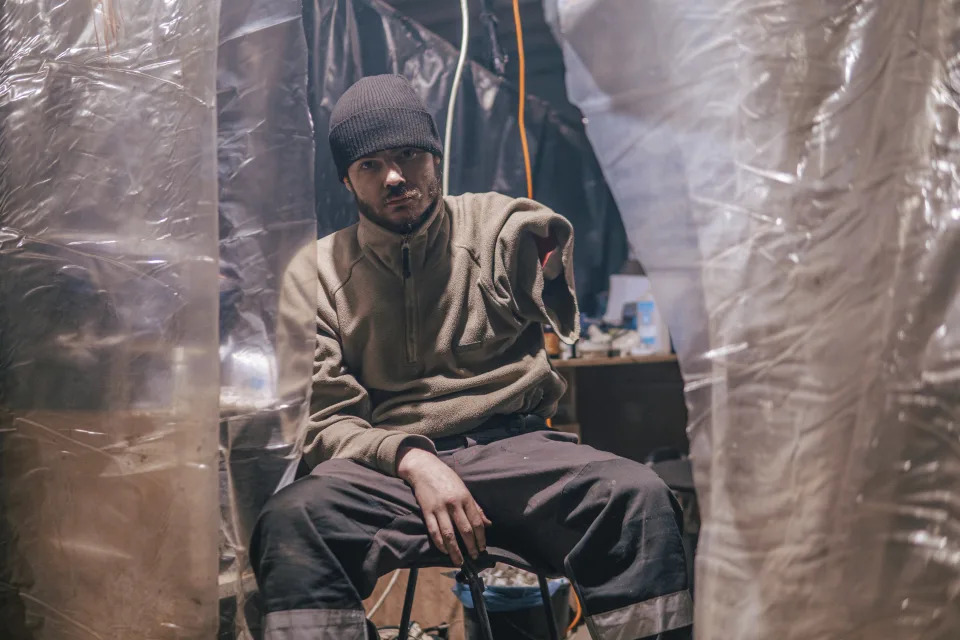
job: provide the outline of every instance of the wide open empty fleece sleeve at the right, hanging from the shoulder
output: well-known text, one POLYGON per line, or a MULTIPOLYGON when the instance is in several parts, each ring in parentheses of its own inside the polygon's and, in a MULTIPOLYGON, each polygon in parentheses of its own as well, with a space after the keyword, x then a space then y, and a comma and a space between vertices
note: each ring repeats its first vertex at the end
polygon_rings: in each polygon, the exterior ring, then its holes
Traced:
POLYGON ((572 344, 580 337, 573 273, 573 226, 532 200, 511 201, 496 238, 493 288, 525 320, 551 325, 572 344))

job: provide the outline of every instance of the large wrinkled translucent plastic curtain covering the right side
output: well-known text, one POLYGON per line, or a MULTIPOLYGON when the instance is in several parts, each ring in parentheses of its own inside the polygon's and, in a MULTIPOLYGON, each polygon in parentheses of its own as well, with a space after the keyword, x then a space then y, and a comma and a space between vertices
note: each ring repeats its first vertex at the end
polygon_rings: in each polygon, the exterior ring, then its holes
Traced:
POLYGON ((702 639, 960 634, 955 0, 547 0, 687 383, 702 639))

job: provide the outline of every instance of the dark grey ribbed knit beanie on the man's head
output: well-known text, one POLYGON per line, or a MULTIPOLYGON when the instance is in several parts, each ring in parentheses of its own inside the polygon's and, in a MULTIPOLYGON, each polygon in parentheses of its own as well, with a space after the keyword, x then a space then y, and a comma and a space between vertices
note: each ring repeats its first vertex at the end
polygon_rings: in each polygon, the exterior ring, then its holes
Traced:
POLYGON ((443 155, 433 116, 403 76, 361 78, 330 115, 330 151, 340 179, 360 158, 399 147, 443 155))

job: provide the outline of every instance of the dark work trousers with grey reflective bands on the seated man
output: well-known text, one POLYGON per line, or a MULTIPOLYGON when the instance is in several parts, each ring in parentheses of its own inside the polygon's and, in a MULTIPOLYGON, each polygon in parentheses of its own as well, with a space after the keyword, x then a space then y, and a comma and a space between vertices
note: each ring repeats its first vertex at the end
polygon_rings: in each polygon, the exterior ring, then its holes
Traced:
MULTIPOLYGON (((689 638, 673 495, 646 466, 542 427, 534 416, 511 416, 437 441, 440 459, 493 522, 487 544, 566 575, 596 640, 689 638)), ((251 559, 266 640, 364 640, 362 600, 378 577, 449 563, 410 487, 347 460, 318 465, 270 499, 251 559)))

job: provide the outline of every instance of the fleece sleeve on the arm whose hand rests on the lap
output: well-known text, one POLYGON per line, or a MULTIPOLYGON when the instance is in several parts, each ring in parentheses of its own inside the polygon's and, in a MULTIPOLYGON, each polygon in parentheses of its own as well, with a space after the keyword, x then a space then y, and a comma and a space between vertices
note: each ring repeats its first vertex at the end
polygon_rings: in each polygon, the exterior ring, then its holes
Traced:
POLYGON ((370 424, 370 395, 343 362, 336 313, 328 296, 321 291, 319 298, 310 417, 303 439, 307 465, 313 468, 324 460, 347 458, 396 475, 400 447, 436 453, 429 438, 370 424))

